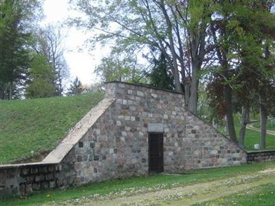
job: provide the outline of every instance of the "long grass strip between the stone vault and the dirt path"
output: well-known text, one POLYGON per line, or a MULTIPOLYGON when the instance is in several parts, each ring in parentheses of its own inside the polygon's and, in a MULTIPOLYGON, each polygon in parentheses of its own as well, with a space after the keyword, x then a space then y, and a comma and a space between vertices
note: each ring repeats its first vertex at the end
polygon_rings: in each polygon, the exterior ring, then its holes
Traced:
POLYGON ((71 187, 67 190, 43 190, 32 193, 27 199, 0 199, 0 205, 42 205, 43 203, 50 204, 53 201, 62 203, 63 201, 91 198, 91 196, 95 196, 96 194, 106 196, 110 193, 114 194, 115 192, 119 193, 121 191, 126 191, 127 194, 131 192, 148 192, 148 188, 161 190, 163 188, 223 179, 239 174, 252 174, 267 168, 274 168, 274 163, 239 165, 208 170, 191 170, 188 173, 179 175, 159 174, 155 176, 131 177, 129 179, 104 181, 102 183, 90 183, 81 187, 71 187))

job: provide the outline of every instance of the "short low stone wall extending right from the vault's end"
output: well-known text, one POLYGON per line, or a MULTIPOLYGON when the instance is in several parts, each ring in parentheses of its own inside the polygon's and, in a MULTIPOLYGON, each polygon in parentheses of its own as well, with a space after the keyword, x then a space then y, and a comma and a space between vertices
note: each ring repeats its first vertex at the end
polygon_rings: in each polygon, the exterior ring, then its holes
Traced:
POLYGON ((272 151, 262 151, 262 152, 248 152, 247 162, 267 162, 275 161, 275 150, 272 151))

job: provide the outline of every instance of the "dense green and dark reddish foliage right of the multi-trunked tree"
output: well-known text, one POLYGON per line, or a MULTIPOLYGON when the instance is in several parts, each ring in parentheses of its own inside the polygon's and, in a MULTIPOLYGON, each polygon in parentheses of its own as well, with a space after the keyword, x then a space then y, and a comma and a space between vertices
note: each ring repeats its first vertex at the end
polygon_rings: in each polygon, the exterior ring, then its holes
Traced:
POLYGON ((248 111, 258 95, 261 113, 267 117, 267 108, 272 108, 275 100, 274 57, 270 55, 274 47, 270 29, 275 28, 270 8, 274 1, 222 1, 217 5, 211 30, 219 45, 218 64, 210 74, 208 96, 217 113, 221 117, 226 114, 230 138, 236 140, 232 101, 248 111))

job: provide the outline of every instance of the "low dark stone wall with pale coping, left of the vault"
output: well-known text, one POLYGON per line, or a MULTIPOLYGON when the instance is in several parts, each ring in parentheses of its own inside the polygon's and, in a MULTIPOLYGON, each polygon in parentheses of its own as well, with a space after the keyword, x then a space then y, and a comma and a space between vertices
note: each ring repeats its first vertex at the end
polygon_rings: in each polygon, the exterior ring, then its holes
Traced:
MULTIPOLYGON (((74 152, 72 150, 72 152, 74 152)), ((75 176, 74 155, 67 155, 63 163, 27 163, 0 166, 0 197, 25 196, 32 191, 72 185, 75 176)))

